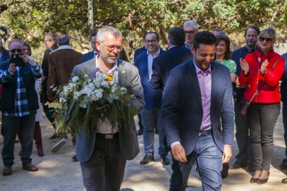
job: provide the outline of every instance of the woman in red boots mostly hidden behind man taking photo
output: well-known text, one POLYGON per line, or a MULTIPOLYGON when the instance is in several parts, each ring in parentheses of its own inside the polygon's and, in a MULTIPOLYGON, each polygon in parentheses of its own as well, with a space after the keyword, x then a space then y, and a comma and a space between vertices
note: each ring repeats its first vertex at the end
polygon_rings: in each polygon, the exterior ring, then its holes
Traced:
MULTIPOLYGON (((24 62, 28 62, 29 60, 34 60, 33 57, 31 57, 31 54, 32 54, 31 46, 26 42, 23 43, 23 53, 24 53, 24 57, 23 57, 24 62)), ((41 106, 40 94, 39 94, 39 89, 41 89, 40 79, 35 80, 35 89, 36 89, 37 96, 38 96, 39 106, 41 106)), ((34 131, 34 140, 35 140, 38 156, 44 156, 43 146, 42 146, 42 134, 41 134, 41 127, 40 127, 40 120, 42 119, 43 119, 43 116, 42 116, 42 110, 40 107, 39 109, 37 109, 36 118, 35 118, 35 131, 34 131)), ((22 135, 20 131, 18 132, 18 138, 19 138, 19 142, 22 143, 22 135)), ((21 155, 21 151, 19 152, 19 155, 21 155)))

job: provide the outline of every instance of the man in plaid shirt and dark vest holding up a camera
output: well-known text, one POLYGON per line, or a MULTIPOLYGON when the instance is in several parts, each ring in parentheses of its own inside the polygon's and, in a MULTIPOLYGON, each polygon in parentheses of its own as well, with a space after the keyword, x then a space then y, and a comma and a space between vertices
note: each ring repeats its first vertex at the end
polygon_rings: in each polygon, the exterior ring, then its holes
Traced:
POLYGON ((12 39, 8 44, 10 59, 0 66, 0 79, 3 86, 1 111, 3 113, 2 174, 12 174, 14 163, 14 143, 17 132, 21 129, 22 168, 31 172, 37 171, 32 165, 33 134, 35 115, 39 109, 35 79, 42 76, 39 64, 33 57, 23 54, 23 42, 12 39), (20 128, 21 127, 21 128, 20 128))

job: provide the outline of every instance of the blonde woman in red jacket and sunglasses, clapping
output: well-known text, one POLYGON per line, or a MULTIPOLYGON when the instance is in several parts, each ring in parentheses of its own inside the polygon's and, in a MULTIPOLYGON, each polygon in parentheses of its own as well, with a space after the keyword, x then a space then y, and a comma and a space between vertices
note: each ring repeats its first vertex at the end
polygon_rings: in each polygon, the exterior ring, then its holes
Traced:
POLYGON ((279 80, 284 58, 273 50, 276 32, 266 28, 259 34, 258 48, 241 62, 240 84, 244 99, 251 100, 246 117, 250 128, 255 172, 250 183, 267 183, 273 154, 273 131, 280 113, 279 80), (253 97, 253 98, 252 98, 253 97))

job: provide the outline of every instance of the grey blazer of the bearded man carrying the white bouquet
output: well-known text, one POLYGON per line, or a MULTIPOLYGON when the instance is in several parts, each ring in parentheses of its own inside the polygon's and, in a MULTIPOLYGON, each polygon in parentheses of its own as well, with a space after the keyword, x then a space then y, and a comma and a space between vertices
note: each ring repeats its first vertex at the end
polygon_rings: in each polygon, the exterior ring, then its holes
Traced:
MULTIPOLYGON (((119 84, 128 89, 128 92, 134 94, 134 105, 140 111, 144 106, 144 101, 141 78, 139 77, 137 67, 118 59, 118 69, 119 84)), ((89 78, 96 78, 95 58, 75 66, 73 73, 80 76, 80 71, 82 70, 89 75, 89 78)), ((76 155, 78 161, 88 161, 94 151, 94 145, 96 143, 96 130, 91 128, 89 137, 80 131, 79 134, 76 135, 76 141, 76 155)), ((137 156, 137 154, 139 154, 139 141, 137 139, 135 124, 133 124, 130 128, 119 128, 119 142, 123 158, 132 160, 137 156), (126 129, 129 129, 129 131, 126 129)))

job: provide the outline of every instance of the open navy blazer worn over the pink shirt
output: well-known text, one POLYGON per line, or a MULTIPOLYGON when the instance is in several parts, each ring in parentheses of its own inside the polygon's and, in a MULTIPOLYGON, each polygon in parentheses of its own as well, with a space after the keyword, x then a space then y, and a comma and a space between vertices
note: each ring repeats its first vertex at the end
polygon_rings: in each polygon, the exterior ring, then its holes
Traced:
MULTIPOLYGON (((202 115, 200 85, 193 61, 189 60, 171 71, 164 91, 162 122, 168 145, 180 141, 186 155, 191 154, 200 132, 202 115)), ((211 63, 210 115, 214 142, 223 152, 223 144, 234 142, 232 82, 227 67, 216 62, 211 63)))

